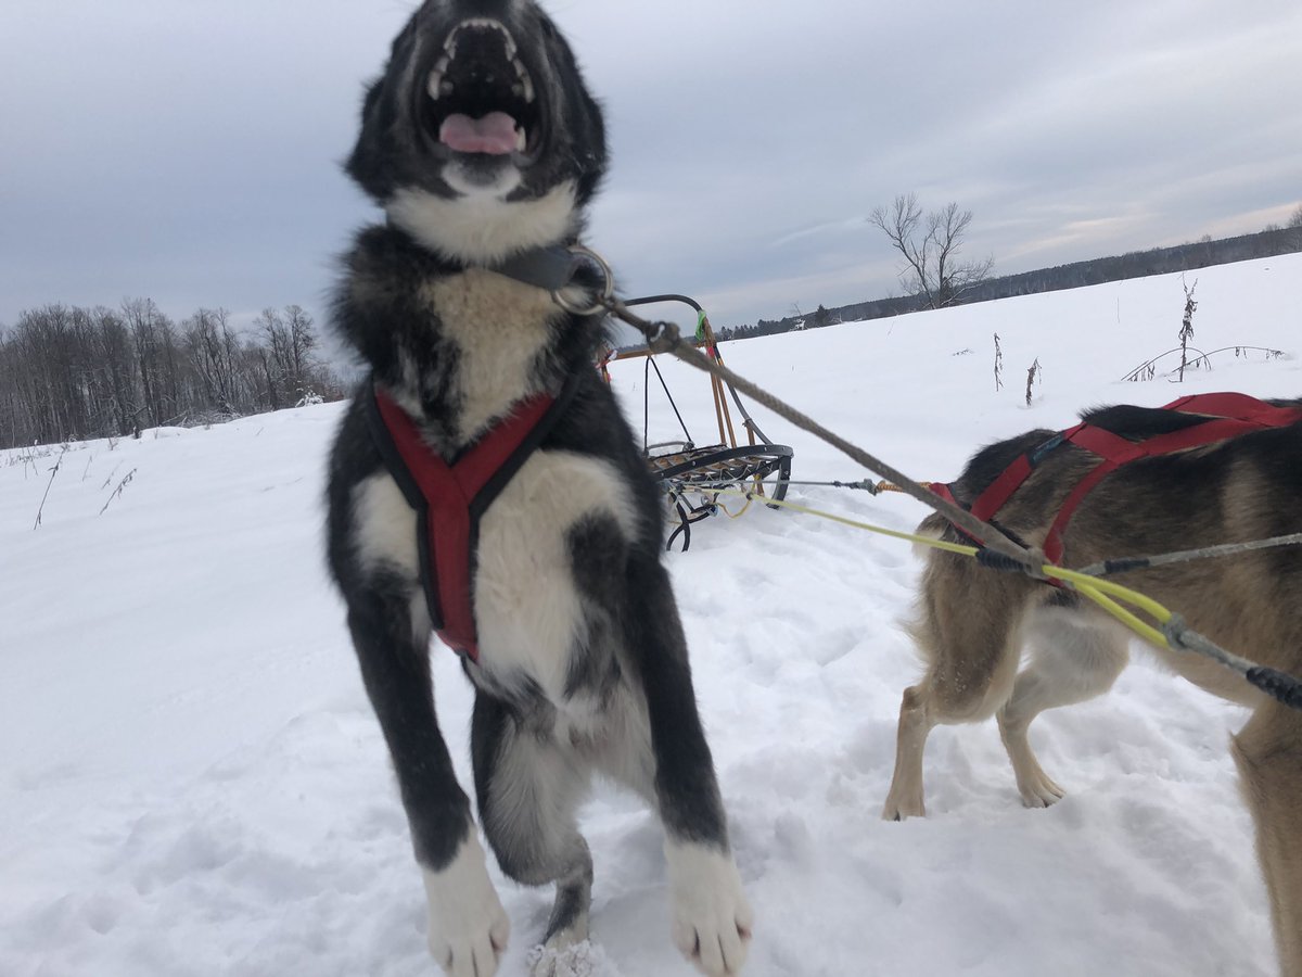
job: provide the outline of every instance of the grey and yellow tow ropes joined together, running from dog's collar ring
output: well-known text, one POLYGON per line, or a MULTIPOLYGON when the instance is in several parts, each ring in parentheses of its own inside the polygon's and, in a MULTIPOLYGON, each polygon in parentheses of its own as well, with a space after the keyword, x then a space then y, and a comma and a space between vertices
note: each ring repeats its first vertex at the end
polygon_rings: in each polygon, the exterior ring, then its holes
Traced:
MULTIPOLYGON (((958 529, 970 533, 973 537, 984 541, 984 546, 963 546, 960 543, 949 543, 941 539, 931 539, 927 537, 919 537, 911 533, 898 533, 896 530, 885 530, 878 526, 870 526, 868 524, 861 524, 855 520, 848 520, 841 516, 835 516, 831 513, 819 513, 814 509, 807 509, 806 507, 798 505, 796 503, 788 503, 785 499, 764 499, 764 504, 779 505, 781 508, 790 508, 794 511, 806 511, 811 515, 820 515, 827 518, 832 518, 837 522, 844 522, 846 525, 855 525, 870 531, 880 531, 885 535, 893 535, 901 539, 907 539, 911 542, 922 543, 924 546, 932 546, 943 550, 949 550, 950 552, 962 554, 965 556, 974 558, 978 563, 992 569, 1026 573, 1036 580, 1057 580, 1064 585, 1081 593, 1082 597, 1088 598, 1104 611, 1111 614, 1113 617, 1120 620, 1133 632, 1143 637, 1144 640, 1157 645, 1165 646, 1174 651, 1193 651, 1195 654, 1204 655, 1232 672, 1242 677, 1245 681, 1253 687, 1260 689, 1266 694, 1271 696, 1276 701, 1289 706, 1290 709, 1302 710, 1302 683, 1294 679, 1292 675, 1269 668, 1267 666, 1251 662, 1241 655, 1236 655, 1232 651, 1226 651, 1220 647, 1203 634, 1189 628, 1185 620, 1178 615, 1173 614, 1168 608, 1163 607, 1160 603, 1152 598, 1144 597, 1129 588, 1124 588, 1111 580, 1100 580, 1099 577, 1092 577, 1079 571, 1069 571, 1061 567, 1055 567, 1046 561, 1044 552, 1039 548, 1029 550, 1019 543, 1009 539, 997 528, 983 522, 982 520, 973 516, 966 509, 941 499, 935 492, 923 487, 921 483, 909 478, 906 474, 898 469, 885 464, 880 459, 870 455, 863 448, 845 440, 836 432, 828 430, 823 425, 814 421, 814 418, 801 413, 796 408, 790 406, 781 399, 773 396, 767 389, 755 386, 743 376, 737 375, 727 366, 716 363, 713 360, 707 357, 704 353, 698 350, 690 343, 684 341, 678 332, 678 327, 672 322, 650 322, 643 319, 641 315, 633 313, 624 302, 615 297, 615 276, 611 271, 609 264, 605 259, 591 251, 587 248, 575 245, 573 249, 575 255, 586 258, 598 267, 598 270, 604 276, 604 283, 600 293, 592 300, 590 306, 575 305, 564 294, 560 289, 552 292, 552 298, 562 309, 570 313, 595 315, 598 313, 608 313, 628 323, 633 328, 638 330, 647 339, 647 348, 652 353, 671 353, 678 360, 684 361, 689 366, 694 366, 698 370, 708 373, 713 376, 720 378, 725 383, 730 384, 734 389, 740 389, 747 397, 755 403, 768 408, 779 417, 796 425, 803 431, 812 434, 816 438, 827 442, 832 447, 837 448, 853 461, 863 465, 863 468, 874 472, 889 482, 894 483, 904 494, 911 495, 918 502, 923 503, 928 508, 935 509, 947 520, 949 520, 958 529), (1122 606, 1130 604, 1137 610, 1143 611, 1151 616, 1156 623, 1157 628, 1143 621, 1138 617, 1134 611, 1122 606)), ((712 490, 707 490, 712 491, 712 490)), ((736 488, 719 490, 720 494, 732 494, 736 496, 751 499, 755 492, 743 492, 736 488)), ((740 513, 738 513, 740 515, 740 513)))

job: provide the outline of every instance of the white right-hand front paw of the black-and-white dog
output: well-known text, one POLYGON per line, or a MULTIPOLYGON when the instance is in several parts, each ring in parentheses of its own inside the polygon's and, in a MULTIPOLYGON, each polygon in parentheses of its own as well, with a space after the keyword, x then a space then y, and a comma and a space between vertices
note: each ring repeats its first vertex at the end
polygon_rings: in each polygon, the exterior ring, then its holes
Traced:
POLYGON ((741 973, 754 913, 732 856, 699 844, 665 843, 673 942, 702 973, 741 973))

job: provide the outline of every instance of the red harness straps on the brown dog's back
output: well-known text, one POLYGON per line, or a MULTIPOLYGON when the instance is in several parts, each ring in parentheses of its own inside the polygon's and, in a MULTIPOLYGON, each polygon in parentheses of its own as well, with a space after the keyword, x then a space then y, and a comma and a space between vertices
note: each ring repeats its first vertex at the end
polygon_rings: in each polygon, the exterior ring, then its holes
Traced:
MULTIPOLYGON (((1250 431, 1288 427, 1302 421, 1302 409, 1273 406, 1246 393, 1195 393, 1172 401, 1161 409, 1178 410, 1185 414, 1206 414, 1207 419, 1180 431, 1159 434, 1142 442, 1126 440, 1090 423, 1078 423, 1075 427, 1059 431, 1004 469, 1003 474, 991 482, 973 503, 971 513, 983 522, 988 522, 1026 481, 1027 475, 1035 470, 1035 466, 1060 444, 1070 442, 1094 452, 1101 461, 1068 494, 1062 508, 1059 509, 1057 518, 1053 520, 1053 525, 1044 538, 1044 556, 1049 563, 1056 564, 1062 559, 1062 533, 1066 531, 1072 515, 1090 494, 1090 490, 1121 465, 1155 455, 1170 455, 1186 448, 1215 444, 1250 431)), ((934 483, 932 491, 949 502, 956 502, 948 485, 934 483)))

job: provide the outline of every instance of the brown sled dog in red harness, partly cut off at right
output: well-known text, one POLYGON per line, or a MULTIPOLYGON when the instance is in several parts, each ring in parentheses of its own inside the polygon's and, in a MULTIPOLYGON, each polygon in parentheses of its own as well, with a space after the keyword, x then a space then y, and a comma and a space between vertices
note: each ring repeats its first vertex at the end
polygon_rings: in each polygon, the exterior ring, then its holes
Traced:
MULTIPOLYGON (((1197 443, 1199 429, 1216 432, 1208 426, 1232 436, 1120 464, 1078 499, 1066 520, 1059 515, 1064 502, 1108 462, 1053 431, 1030 431, 982 449, 949 488, 961 505, 988 508, 991 496, 982 500, 983 494, 1019 466, 1025 481, 999 505, 993 522, 1029 546, 1043 546, 1051 558, 1061 546, 1055 561, 1064 567, 1302 530, 1302 400, 1272 401, 1284 408, 1272 413, 1240 395, 1204 396, 1220 399, 1221 406, 1255 404, 1247 413, 1264 410, 1275 426, 1236 429, 1208 417, 1233 416, 1233 408, 1211 410, 1198 400, 1180 412, 1113 406, 1083 414, 1095 434, 1101 430, 1100 439, 1117 435, 1113 443, 1122 452, 1128 443, 1197 443)), ((935 515, 919 530, 971 542, 935 515)), ((1178 611, 1223 647, 1302 675, 1302 547, 1168 564, 1120 580, 1178 611)), ((904 692, 883 817, 924 813, 922 756, 932 727, 991 715, 1023 802, 1057 801, 1062 789, 1036 762, 1027 727, 1046 709, 1107 692, 1128 663, 1129 632, 1068 590, 940 551, 927 556, 910 630, 927 668, 904 692), (1029 664, 1018 671, 1023 646, 1029 664)), ((1232 749, 1256 825, 1281 972, 1302 977, 1302 713, 1206 658, 1156 653, 1194 684, 1254 709, 1232 749)))

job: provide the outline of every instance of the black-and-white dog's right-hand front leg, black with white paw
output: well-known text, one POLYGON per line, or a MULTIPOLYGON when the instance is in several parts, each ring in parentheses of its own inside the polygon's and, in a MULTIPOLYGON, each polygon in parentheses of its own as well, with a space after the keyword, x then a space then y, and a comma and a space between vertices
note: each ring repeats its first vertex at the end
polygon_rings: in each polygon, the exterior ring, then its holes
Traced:
POLYGON ((713 761, 691 687, 687 646, 664 568, 634 559, 625 642, 646 694, 665 828, 673 939, 711 977, 741 972, 754 916, 728 844, 713 761))

